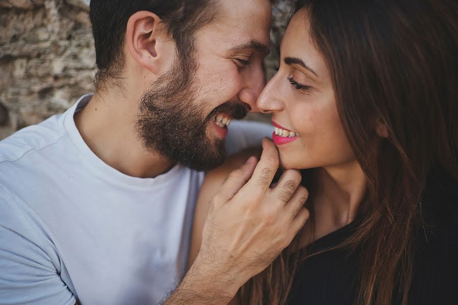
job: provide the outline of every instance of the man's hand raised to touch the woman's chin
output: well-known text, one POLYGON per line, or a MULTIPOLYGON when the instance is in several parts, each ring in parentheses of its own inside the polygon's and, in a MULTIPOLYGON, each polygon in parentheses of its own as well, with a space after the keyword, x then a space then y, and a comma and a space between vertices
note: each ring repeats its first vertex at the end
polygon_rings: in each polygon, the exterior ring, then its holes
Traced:
POLYGON ((307 190, 297 170, 283 173, 270 189, 279 166, 276 146, 263 140, 259 163, 251 157, 228 176, 213 197, 202 245, 193 265, 231 296, 264 270, 304 226, 309 212, 307 190))

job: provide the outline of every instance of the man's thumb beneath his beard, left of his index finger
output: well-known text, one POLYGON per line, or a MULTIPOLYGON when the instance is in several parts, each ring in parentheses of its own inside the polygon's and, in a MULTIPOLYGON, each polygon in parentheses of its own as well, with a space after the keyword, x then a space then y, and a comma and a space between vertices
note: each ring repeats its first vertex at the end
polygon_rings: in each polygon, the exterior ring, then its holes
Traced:
POLYGON ((229 201, 251 177, 256 166, 256 157, 251 156, 240 168, 232 171, 221 186, 217 196, 221 204, 229 201))

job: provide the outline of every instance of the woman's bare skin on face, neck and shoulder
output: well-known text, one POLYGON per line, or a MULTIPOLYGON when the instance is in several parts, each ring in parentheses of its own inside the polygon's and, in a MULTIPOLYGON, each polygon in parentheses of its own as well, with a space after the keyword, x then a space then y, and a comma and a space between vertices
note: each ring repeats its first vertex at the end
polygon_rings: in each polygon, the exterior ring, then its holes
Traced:
MULTIPOLYGON (((316 224, 312 228, 307 222, 299 233, 302 248, 354 220, 365 181, 339 118, 329 69, 310 37, 306 11, 299 11, 291 20, 280 51, 278 73, 266 85, 256 105, 262 112, 272 113, 275 123, 299 134, 295 141, 277 146, 280 166, 285 170, 317 169, 314 178, 320 188, 307 203, 313 204, 316 224), (309 69, 285 60, 288 57, 300 59, 309 69), (307 89, 298 88, 291 79, 307 89)), ((386 128, 378 125, 374 137, 386 136, 386 128)), ((230 158, 207 175, 195 211, 190 264, 201 247, 209 198, 228 173, 251 154, 230 158)), ((231 302, 239 303, 238 297, 231 302)))

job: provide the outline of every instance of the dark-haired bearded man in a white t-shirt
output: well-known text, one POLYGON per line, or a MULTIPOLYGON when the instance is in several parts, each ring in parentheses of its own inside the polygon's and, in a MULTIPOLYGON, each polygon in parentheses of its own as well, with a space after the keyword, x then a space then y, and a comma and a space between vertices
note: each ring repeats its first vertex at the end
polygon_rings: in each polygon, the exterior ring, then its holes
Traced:
MULTIPOLYGON (((246 223, 265 231, 226 223, 247 215, 241 204, 278 201, 281 188, 268 188, 278 155, 265 142, 259 164, 214 198, 185 276, 204 171, 224 161, 231 120, 256 111, 270 3, 93 0, 90 18, 95 94, 0 142, 0 303, 154 304, 181 279, 167 304, 227 303, 305 222, 287 235, 278 228, 289 220, 264 222, 248 208, 246 223)), ((232 132, 230 151, 266 134, 262 125, 232 132)))

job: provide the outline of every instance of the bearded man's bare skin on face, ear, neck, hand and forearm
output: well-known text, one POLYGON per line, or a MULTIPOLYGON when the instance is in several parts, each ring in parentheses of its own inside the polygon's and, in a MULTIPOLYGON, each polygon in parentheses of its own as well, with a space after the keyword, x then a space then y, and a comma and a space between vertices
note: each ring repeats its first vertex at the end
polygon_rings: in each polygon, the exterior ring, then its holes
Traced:
MULTIPOLYGON (((204 104, 204 117, 227 101, 258 111, 256 99, 265 85, 261 63, 269 43, 269 1, 219 3, 218 18, 197 31, 195 40, 199 99, 190 107, 204 104)), ((175 44, 157 15, 140 11, 128 20, 123 52, 123 90, 100 86, 75 115, 75 124, 106 164, 130 176, 155 177, 174 164, 144 147, 135 123, 141 96, 175 62, 175 44)), ((215 142, 220 136, 212 124, 205 132, 215 142)), ((233 171, 210 198, 194 263, 165 305, 228 303, 304 226, 308 193, 299 186, 299 171, 286 171, 270 189, 278 150, 267 139, 263 148, 259 162, 251 159, 233 171)))

